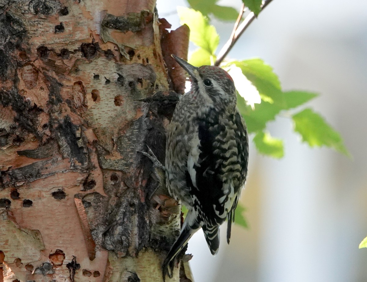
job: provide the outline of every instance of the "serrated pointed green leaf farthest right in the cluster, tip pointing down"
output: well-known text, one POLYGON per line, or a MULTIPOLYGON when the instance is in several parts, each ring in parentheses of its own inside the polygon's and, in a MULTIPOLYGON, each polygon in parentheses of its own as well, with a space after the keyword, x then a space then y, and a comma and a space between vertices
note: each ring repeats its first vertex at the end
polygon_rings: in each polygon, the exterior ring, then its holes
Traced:
POLYGON ((312 109, 304 109, 292 116, 292 119, 295 125, 294 130, 301 134, 302 141, 307 142, 310 147, 325 145, 350 156, 340 134, 312 109))

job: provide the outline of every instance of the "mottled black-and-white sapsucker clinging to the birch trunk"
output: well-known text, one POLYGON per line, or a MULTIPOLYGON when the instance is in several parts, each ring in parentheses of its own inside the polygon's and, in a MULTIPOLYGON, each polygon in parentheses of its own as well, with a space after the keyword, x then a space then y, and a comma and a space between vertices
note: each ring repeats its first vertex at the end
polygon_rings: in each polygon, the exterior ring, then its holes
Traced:
POLYGON ((228 218, 229 243, 248 163, 247 129, 236 107, 232 78, 219 67, 196 68, 172 57, 189 73, 192 85, 179 100, 168 127, 166 183, 188 213, 164 260, 163 278, 167 271, 172 276, 175 257, 200 227, 214 255, 219 248, 219 225, 228 218))

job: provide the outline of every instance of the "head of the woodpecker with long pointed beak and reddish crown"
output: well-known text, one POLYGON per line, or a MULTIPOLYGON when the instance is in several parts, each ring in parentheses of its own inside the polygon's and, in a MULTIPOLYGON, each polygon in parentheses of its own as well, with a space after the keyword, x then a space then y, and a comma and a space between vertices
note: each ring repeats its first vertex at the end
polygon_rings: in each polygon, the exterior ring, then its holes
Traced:
POLYGON ((191 76, 192 95, 200 95, 215 108, 235 109, 237 96, 232 77, 218 66, 196 66, 171 55, 183 69, 191 76))

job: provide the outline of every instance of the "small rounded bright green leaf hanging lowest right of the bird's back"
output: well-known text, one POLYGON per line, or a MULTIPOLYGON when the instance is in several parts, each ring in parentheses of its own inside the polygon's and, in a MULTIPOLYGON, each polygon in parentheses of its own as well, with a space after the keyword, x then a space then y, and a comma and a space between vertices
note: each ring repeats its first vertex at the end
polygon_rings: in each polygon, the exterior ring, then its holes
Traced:
POLYGON ((259 153, 271 156, 276 159, 283 158, 283 141, 273 138, 269 133, 258 132, 254 137, 254 142, 259 153))

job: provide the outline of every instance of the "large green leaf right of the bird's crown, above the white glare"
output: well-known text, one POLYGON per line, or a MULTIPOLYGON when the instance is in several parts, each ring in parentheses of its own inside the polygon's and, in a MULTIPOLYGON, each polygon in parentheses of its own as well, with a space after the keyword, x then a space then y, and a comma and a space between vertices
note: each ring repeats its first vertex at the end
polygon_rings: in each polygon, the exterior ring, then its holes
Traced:
POLYGON ((283 108, 286 107, 278 76, 273 72, 271 66, 266 65, 258 58, 236 61, 231 64, 241 68, 242 73, 259 91, 263 101, 279 104, 283 108))

